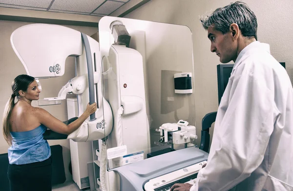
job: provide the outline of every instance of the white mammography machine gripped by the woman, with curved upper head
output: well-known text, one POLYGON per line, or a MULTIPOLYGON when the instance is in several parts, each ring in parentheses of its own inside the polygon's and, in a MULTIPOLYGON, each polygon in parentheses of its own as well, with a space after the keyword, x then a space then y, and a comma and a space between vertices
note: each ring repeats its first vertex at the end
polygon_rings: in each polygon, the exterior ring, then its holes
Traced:
MULTIPOLYGON (((50 102, 65 99, 67 93, 76 94, 79 115, 85 111, 88 98, 90 104, 97 102, 98 110, 75 132, 68 135, 67 139, 91 141, 110 134, 113 117, 111 108, 102 95, 99 42, 79 31, 51 24, 22 26, 12 33, 10 41, 26 73, 35 78, 63 76, 66 58, 76 57, 76 77, 60 90, 58 97, 45 99, 50 102)), ((50 135, 50 139, 65 138, 54 132, 44 134, 48 139, 47 135, 50 135)))

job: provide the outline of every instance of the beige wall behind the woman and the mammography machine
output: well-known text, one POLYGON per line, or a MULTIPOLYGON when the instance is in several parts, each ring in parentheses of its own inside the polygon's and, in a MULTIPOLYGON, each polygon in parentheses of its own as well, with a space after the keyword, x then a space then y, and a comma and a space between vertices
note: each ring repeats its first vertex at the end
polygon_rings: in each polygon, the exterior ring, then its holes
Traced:
MULTIPOLYGON (((0 20, 0 114, 3 113, 5 104, 12 94, 11 83, 13 79, 20 75, 26 74, 24 67, 13 51, 10 44, 11 33, 17 28, 31 24, 28 22, 17 22, 17 21, 6 21, 0 20)), ((83 26, 67 26, 66 27, 78 30, 87 35, 92 35, 98 31, 96 27, 83 27, 83 26)), ((58 96, 58 92, 67 81, 75 76, 74 71, 74 57, 68 57, 65 64, 65 74, 61 77, 41 79, 42 92, 40 99, 44 97, 55 97, 58 96)), ((70 97, 70 96, 67 96, 70 97)), ((32 105, 36 105, 34 102, 32 105)), ((67 107, 66 101, 63 101, 62 105, 58 106, 43 106, 43 109, 47 110, 50 114, 57 117, 61 121, 67 120, 67 107)), ((2 120, 2 118, 1 118, 2 120)), ((1 121, 2 124, 2 121, 1 121)), ((66 180, 71 180, 72 176, 68 171, 68 165, 70 162, 70 146, 69 140, 49 140, 50 145, 62 145, 63 146, 63 160, 66 180)), ((5 142, 2 134, 2 128, 0 133, 0 153, 7 153, 9 148, 5 142)))

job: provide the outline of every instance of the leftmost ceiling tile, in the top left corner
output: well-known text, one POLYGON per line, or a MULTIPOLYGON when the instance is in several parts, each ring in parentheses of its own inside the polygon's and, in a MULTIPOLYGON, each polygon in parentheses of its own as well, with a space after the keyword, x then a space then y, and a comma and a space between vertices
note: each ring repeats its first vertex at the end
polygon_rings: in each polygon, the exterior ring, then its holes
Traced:
POLYGON ((52 0, 0 0, 0 3, 28 7, 48 8, 52 0))

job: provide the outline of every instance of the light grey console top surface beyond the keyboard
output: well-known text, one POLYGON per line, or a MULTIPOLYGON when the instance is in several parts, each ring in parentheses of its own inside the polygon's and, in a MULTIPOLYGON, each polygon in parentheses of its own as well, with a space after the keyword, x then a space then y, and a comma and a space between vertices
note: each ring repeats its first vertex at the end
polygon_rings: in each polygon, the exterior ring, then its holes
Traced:
POLYGON ((161 154, 113 169, 120 176, 120 191, 144 191, 152 178, 173 172, 208 159, 208 153, 189 147, 161 154))

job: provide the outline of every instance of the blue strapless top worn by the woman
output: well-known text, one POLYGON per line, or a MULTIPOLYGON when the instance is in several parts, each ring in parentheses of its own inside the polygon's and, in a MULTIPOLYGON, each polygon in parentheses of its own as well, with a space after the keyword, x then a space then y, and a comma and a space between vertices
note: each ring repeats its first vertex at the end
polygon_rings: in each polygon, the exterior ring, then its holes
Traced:
POLYGON ((8 149, 10 164, 23 165, 34 162, 41 162, 51 156, 48 142, 43 139, 46 131, 44 125, 26 132, 10 132, 12 145, 8 149))

